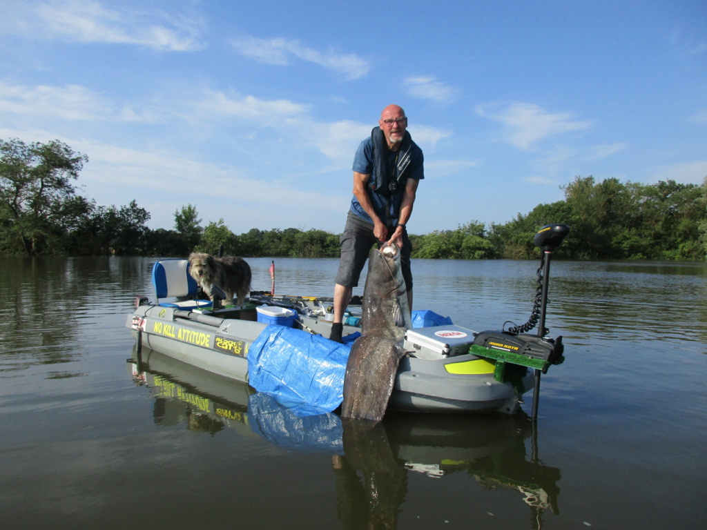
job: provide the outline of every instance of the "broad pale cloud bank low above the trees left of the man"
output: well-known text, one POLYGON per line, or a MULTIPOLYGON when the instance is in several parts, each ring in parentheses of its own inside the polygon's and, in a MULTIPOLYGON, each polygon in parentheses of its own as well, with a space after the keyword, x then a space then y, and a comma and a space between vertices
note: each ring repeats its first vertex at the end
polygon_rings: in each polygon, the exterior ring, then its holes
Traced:
POLYGON ((67 143, 90 155, 90 163, 81 173, 88 196, 98 204, 127 204, 136 198, 146 207, 151 201, 148 211, 153 213, 153 227, 171 225, 174 195, 187 189, 189 201, 199 205, 205 223, 223 218, 232 230, 242 222, 238 219, 241 206, 271 211, 298 204, 312 213, 340 213, 340 203, 346 200, 332 196, 329 189, 317 191, 297 181, 263 179, 245 168, 204 163, 182 153, 141 151, 76 139, 67 143))

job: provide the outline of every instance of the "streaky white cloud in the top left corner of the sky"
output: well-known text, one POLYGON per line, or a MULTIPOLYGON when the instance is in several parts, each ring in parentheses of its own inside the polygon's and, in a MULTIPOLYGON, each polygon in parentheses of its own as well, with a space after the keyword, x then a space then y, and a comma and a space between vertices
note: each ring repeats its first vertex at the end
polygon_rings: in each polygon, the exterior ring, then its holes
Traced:
POLYGON ((1 28, 35 39, 139 45, 183 52, 199 49, 193 17, 107 8, 93 0, 9 2, 1 28))

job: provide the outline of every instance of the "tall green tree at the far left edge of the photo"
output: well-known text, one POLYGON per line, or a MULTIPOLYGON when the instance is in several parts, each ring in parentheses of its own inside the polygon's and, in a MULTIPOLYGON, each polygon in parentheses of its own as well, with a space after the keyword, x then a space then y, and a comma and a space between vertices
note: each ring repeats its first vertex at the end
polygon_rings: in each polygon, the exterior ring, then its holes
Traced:
POLYGON ((88 157, 58 140, 0 139, 0 153, 0 251, 63 252, 67 231, 90 209, 71 183, 88 157))

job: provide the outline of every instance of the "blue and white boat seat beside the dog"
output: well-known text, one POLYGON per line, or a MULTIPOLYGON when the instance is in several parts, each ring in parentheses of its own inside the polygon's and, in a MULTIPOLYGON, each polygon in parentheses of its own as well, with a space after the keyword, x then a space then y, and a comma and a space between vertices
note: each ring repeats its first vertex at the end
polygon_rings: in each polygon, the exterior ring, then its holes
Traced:
POLYGON ((186 259, 160 259, 152 268, 152 285, 158 305, 178 307, 182 310, 211 307, 211 300, 195 300, 199 293, 197 281, 189 275, 186 259), (173 302, 160 302, 160 298, 177 298, 173 302))

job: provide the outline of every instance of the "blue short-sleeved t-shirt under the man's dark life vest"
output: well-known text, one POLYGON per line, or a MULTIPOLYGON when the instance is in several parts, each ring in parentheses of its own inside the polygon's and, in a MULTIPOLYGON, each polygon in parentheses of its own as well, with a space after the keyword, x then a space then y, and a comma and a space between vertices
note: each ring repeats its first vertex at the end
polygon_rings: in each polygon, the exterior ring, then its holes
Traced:
MULTIPOLYGON (((390 157, 390 164, 395 165, 397 160, 397 155, 399 151, 388 151, 388 156, 390 157)), ((422 150, 417 146, 414 141, 411 141, 410 149, 410 163, 403 173, 404 177, 409 179, 421 180, 425 178, 423 170, 424 157, 422 155, 422 150)), ((375 184, 375 172, 373 171, 373 139, 368 136, 367 139, 361 142, 358 146, 356 155, 354 156, 354 171, 357 173, 363 173, 363 175, 370 175, 370 183, 375 184)), ((375 213, 378 214, 380 220, 385 223, 386 215, 385 211, 390 208, 390 215, 397 221, 397 216, 400 210, 400 204, 402 203, 402 196, 405 191, 404 186, 401 186, 397 193, 389 198, 376 193, 370 187, 366 187, 366 193, 370 197, 370 201, 373 203, 373 209, 375 213)), ((368 223, 373 224, 373 219, 370 218, 368 213, 363 209, 363 206, 359 204, 356 195, 351 199, 351 211, 354 212, 358 217, 366 220, 368 223)))

